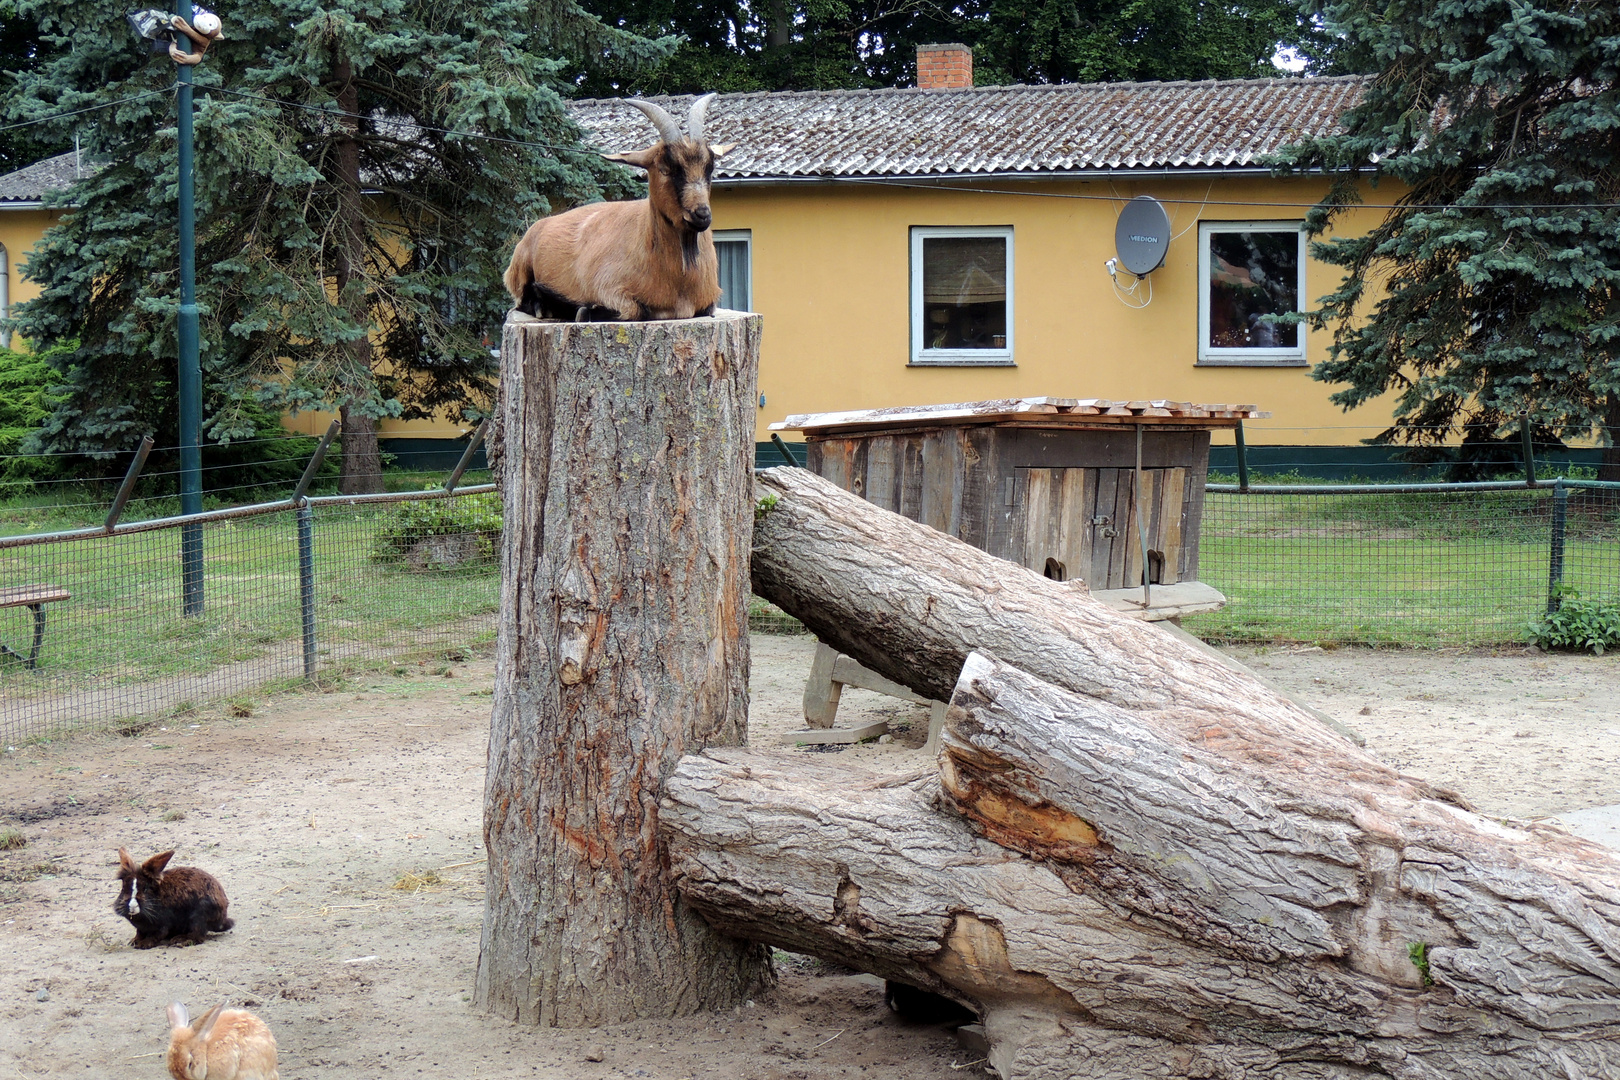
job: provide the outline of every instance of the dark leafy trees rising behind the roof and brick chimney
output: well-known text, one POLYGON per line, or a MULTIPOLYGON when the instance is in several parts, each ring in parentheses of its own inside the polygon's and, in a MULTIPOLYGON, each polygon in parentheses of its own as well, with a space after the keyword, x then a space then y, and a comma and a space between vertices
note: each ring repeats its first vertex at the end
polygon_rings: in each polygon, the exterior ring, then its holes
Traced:
POLYGON ((909 86, 917 45, 974 47, 975 81, 1084 83, 1278 74, 1278 49, 1325 70, 1335 39, 1294 0, 599 0, 642 34, 684 34, 633 78, 585 74, 586 94, 909 86))

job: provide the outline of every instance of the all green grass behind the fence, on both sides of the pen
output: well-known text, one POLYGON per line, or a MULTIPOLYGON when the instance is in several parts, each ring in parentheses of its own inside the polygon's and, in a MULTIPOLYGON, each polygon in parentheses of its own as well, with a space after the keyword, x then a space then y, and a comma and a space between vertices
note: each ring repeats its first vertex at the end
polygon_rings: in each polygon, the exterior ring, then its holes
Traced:
MULTIPOLYGON (((416 491, 429 474, 389 476, 416 491)), ((1228 495, 1205 499, 1199 578, 1226 609, 1191 630, 1236 641, 1481 644, 1523 641, 1547 604, 1547 492, 1409 495, 1228 495)), ((136 507, 170 513, 162 500, 136 507)), ((99 521, 104 507, 15 500, 0 531, 99 521), (45 525, 42 525, 45 523, 45 525)), ((361 657, 442 656, 494 636, 496 560, 446 572, 377 562, 386 507, 324 505, 314 518, 314 609, 322 672, 361 657)), ((1620 594, 1620 497, 1570 499, 1565 583, 1620 594)), ((36 674, 0 659, 0 721, 47 695, 212 672, 275 654, 282 675, 301 656, 298 544, 292 513, 204 526, 206 614, 181 614, 175 529, 0 551, 0 585, 50 583, 73 597, 47 606, 36 674)), ((758 628, 799 630, 763 602, 758 628), (778 625, 779 623, 779 625, 778 625)), ((0 610, 0 641, 23 649, 26 609, 0 610)), ((381 661, 379 661, 381 662, 381 661)), ((235 690, 230 690, 235 693, 235 690)), ((175 691, 175 698, 193 696, 175 691)), ((3 724, 0 724, 3 727, 3 724)))

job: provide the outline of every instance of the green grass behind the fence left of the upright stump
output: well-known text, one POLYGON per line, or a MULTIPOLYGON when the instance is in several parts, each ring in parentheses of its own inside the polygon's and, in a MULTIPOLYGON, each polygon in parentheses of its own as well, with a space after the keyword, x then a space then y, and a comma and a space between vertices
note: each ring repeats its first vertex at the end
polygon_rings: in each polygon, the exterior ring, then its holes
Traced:
MULTIPOLYGON (((316 638, 324 654, 348 646, 429 648, 488 633, 465 625, 496 610, 499 573, 416 572, 371 559, 384 508, 321 507, 314 518, 316 638)), ((201 619, 181 612, 180 533, 0 551, 0 583, 50 583, 73 597, 45 607, 39 672, 0 662, 0 693, 62 691, 149 682, 301 649, 298 538, 292 513, 207 523, 201 619)), ((0 641, 23 648, 26 609, 0 610, 0 641)))

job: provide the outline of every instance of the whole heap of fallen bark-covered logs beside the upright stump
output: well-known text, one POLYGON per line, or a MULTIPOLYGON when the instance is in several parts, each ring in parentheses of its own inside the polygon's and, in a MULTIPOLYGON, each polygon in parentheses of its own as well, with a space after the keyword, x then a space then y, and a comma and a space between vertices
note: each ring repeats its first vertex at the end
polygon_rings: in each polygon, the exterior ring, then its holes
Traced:
POLYGON ((919 693, 959 672, 936 771, 682 761, 716 928, 974 1006, 1008 1078, 1620 1077, 1614 852, 802 470, 761 487, 757 591, 919 693))

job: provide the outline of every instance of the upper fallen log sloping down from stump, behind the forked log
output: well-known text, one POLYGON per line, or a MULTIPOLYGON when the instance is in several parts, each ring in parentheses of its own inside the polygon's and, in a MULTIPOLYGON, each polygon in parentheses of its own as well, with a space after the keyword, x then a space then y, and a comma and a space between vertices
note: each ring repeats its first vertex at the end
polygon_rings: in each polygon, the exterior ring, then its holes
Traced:
POLYGON ((1244 743, 1270 764, 1312 769, 1319 753, 1346 745, 1283 695, 1108 609, 1082 585, 988 555, 805 470, 763 470, 755 484, 774 504, 753 528, 753 591, 923 698, 948 701, 967 654, 982 649, 1189 735, 1244 743), (1226 722, 1233 701, 1241 730, 1226 722))

